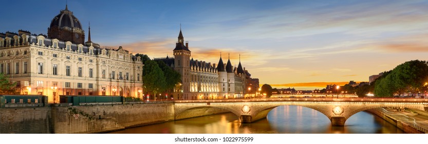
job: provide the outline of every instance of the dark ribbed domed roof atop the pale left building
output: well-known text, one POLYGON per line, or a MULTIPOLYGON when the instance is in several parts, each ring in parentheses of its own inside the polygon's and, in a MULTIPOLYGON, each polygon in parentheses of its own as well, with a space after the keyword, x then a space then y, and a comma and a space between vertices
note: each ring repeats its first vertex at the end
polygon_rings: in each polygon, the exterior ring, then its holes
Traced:
POLYGON ((53 17, 50 22, 50 28, 53 26, 58 26, 60 28, 69 27, 71 29, 76 27, 83 30, 80 21, 73 15, 72 11, 68 10, 67 6, 65 6, 65 10, 61 10, 60 14, 53 17))

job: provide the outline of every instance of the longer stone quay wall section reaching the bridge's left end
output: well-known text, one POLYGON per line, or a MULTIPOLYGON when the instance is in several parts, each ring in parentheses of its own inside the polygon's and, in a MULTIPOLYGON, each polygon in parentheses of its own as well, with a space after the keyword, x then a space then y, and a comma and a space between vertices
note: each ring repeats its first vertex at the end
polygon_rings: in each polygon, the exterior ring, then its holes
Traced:
POLYGON ((53 133, 102 133, 171 120, 171 102, 52 107, 53 133))

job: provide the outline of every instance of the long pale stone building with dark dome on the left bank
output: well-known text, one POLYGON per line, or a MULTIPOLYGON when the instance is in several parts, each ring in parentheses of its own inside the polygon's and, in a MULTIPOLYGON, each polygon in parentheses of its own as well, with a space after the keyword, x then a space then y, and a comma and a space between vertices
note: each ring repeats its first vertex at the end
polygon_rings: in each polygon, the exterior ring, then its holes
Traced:
POLYGON ((66 6, 47 31, 0 33, 0 73, 17 82, 22 95, 119 95, 142 97, 143 63, 119 48, 87 41, 82 24, 66 6))

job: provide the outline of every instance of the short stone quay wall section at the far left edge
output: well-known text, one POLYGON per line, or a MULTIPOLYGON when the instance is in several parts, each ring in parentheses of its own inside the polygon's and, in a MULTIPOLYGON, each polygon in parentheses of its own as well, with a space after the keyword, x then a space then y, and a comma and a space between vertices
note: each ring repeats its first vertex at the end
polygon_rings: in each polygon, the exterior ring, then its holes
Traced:
POLYGON ((0 133, 50 133, 50 107, 4 107, 0 109, 0 133))

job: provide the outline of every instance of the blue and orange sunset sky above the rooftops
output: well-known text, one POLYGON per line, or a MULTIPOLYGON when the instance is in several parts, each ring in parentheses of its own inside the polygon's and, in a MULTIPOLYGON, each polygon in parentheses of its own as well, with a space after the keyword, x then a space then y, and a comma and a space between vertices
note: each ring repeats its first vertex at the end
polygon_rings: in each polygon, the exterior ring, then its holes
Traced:
MULTIPOLYGON (((66 1, 2 4, 0 32, 47 34, 66 1)), ((368 81, 428 58, 428 1, 68 0, 68 9, 86 33, 90 22, 93 42, 151 59, 172 56, 181 24, 193 59, 230 53, 237 66, 240 54, 253 78, 274 87, 368 81)))

